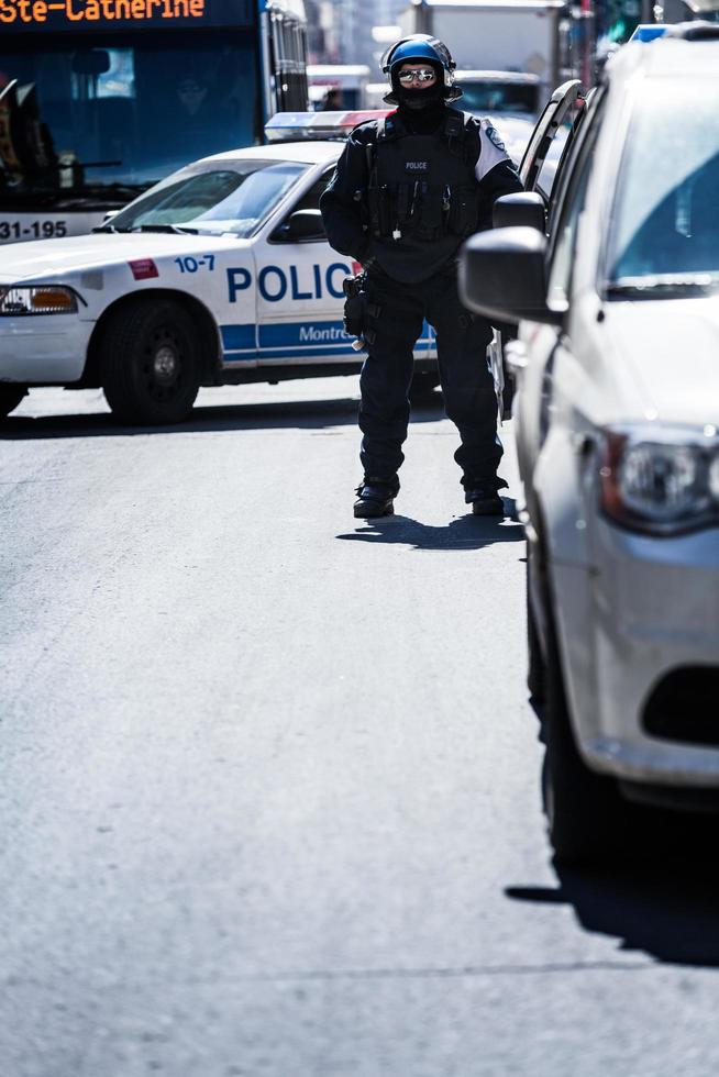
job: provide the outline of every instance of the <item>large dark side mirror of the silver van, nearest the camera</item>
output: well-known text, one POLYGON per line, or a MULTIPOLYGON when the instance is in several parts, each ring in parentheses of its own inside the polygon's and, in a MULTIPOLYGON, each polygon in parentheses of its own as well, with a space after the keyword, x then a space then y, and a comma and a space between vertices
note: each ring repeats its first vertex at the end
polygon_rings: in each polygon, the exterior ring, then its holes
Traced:
POLYGON ((473 235, 462 248, 462 302, 496 322, 561 325, 563 310, 546 302, 546 236, 537 229, 496 229, 473 235))

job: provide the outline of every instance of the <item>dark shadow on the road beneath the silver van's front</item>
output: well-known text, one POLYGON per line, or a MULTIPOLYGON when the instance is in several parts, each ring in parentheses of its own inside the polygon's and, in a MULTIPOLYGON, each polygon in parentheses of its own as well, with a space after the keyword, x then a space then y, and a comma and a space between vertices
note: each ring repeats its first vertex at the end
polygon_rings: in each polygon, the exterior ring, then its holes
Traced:
POLYGON ((513 886, 505 892, 531 904, 571 904, 583 928, 621 940, 624 952, 719 967, 716 836, 708 819, 699 822, 700 834, 692 835, 683 854, 606 871, 555 866, 556 889, 513 886))

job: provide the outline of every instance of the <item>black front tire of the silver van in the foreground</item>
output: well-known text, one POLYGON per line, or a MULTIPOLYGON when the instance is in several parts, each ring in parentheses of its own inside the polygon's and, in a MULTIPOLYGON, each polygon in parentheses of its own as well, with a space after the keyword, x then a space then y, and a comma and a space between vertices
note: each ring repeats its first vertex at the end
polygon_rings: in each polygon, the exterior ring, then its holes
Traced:
POLYGON ((551 635, 543 712, 542 801, 554 856, 560 864, 584 867, 621 859, 630 851, 627 841, 631 807, 622 799, 617 782, 595 774, 579 755, 556 636, 554 632, 551 635))

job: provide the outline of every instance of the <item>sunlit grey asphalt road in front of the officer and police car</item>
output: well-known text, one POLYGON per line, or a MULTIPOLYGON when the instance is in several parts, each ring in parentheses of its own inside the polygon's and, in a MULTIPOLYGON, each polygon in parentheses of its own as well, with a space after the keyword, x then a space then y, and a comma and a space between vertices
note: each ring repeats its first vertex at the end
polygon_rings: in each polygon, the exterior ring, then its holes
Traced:
POLYGON ((714 864, 555 871, 520 528, 436 406, 354 521, 356 398, 3 429, 2 1077, 719 1072, 714 864))

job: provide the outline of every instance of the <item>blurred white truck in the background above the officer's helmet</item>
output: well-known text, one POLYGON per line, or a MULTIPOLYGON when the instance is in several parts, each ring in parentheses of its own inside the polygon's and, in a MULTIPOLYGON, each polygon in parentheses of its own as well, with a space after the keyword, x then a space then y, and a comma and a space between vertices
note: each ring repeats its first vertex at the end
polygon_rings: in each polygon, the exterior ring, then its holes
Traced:
POLYGON ((542 100, 572 74, 564 0, 413 0, 399 24, 440 37, 458 68, 537 75, 542 100))

